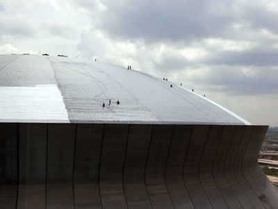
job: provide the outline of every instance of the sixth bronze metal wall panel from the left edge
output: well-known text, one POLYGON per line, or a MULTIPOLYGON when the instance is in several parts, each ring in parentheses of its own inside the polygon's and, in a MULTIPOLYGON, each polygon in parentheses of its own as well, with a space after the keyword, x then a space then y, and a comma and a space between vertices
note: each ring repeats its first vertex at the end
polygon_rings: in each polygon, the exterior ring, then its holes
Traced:
POLYGON ((145 185, 145 168, 152 125, 131 125, 126 146, 123 183, 129 208, 152 208, 145 185))

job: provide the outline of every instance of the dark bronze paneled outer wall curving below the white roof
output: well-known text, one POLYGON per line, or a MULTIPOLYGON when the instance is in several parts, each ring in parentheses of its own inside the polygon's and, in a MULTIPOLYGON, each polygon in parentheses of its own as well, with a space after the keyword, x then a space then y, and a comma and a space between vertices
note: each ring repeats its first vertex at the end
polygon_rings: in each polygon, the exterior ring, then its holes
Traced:
POLYGON ((278 208, 267 129, 0 123, 0 208, 278 208))

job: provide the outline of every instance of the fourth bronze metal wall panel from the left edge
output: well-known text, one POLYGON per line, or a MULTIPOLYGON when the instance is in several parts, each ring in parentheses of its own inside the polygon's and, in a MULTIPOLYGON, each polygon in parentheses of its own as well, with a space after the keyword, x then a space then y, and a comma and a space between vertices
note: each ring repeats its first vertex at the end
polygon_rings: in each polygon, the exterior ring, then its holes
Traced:
POLYGON ((74 158, 75 208, 101 208, 99 163, 103 124, 77 124, 74 158))

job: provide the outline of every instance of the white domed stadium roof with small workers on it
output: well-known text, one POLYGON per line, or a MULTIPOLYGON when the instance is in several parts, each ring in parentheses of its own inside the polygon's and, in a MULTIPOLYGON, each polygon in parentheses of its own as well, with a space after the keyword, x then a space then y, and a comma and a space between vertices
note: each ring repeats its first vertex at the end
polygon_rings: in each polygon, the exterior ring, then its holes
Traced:
POLYGON ((1 122, 250 124, 161 78, 60 56, 1 55, 0 95, 1 122))

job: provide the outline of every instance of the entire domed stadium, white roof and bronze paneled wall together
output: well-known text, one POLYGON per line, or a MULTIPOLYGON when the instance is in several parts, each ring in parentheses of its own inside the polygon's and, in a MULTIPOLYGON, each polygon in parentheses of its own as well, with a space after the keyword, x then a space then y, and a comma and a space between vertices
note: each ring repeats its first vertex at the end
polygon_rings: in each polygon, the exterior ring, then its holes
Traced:
POLYGON ((278 208, 251 125, 166 78, 0 56, 0 208, 278 208))

